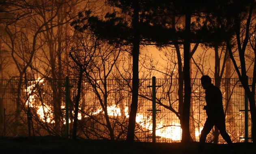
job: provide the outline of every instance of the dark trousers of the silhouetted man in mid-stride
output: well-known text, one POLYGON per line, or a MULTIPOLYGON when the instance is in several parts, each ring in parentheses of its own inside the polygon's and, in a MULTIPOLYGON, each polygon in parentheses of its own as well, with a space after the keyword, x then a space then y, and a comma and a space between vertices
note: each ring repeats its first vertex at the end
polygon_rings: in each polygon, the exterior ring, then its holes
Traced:
POLYGON ((204 128, 201 131, 199 150, 200 149, 202 150, 204 148, 204 143, 205 143, 206 137, 210 133, 213 126, 217 126, 217 128, 219 129, 220 135, 222 135, 223 139, 225 139, 225 141, 229 145, 232 144, 230 136, 226 132, 225 118, 220 118, 220 119, 209 119, 209 118, 207 118, 205 123, 204 123, 204 128))

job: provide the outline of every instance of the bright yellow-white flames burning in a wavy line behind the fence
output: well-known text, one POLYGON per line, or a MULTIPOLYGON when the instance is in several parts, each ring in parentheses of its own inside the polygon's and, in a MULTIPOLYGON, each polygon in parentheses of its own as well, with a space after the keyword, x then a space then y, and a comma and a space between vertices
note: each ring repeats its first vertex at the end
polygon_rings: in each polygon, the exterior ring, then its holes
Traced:
MULTIPOLYGON (((35 92, 34 87, 38 83, 42 83, 43 79, 37 79, 36 81, 30 81, 31 85, 26 88, 26 92, 28 92, 28 100, 27 104, 29 103, 30 107, 34 107, 33 103, 36 100, 36 95, 33 93, 35 92)), ((55 123, 54 121, 54 114, 52 112, 52 106, 51 105, 39 105, 37 106, 37 114, 39 115, 40 120, 47 123, 55 123)), ((65 108, 65 106, 61 106, 62 110, 65 108)), ((81 109, 80 109, 81 110, 81 109)), ((118 105, 110 105, 107 107, 108 115, 112 117, 122 116, 122 112, 120 107, 118 105)), ((129 108, 125 107, 123 109, 125 118, 129 118, 129 108)), ((72 111, 74 114, 74 111, 72 111)), ((104 113, 103 109, 97 109, 94 112, 89 113, 90 116, 97 115, 100 113, 104 113)), ((87 118, 88 115, 84 116, 84 118, 87 118)), ((78 120, 82 119, 82 114, 78 113, 78 120)), ((66 124, 65 118, 63 119, 64 124, 66 124)), ((152 116, 149 116, 146 113, 137 113, 136 115, 136 122, 144 129, 149 130, 152 133, 152 116)), ((69 119, 69 123, 71 123, 71 120, 69 119)), ((163 124, 163 122, 158 122, 156 124, 156 135, 159 137, 163 137, 166 139, 172 139, 173 141, 179 141, 181 140, 181 134, 182 129, 181 125, 175 122, 171 122, 170 124, 163 124)), ((201 128, 200 128, 201 130, 201 128)), ((196 136, 199 136, 199 131, 196 131, 196 136)))

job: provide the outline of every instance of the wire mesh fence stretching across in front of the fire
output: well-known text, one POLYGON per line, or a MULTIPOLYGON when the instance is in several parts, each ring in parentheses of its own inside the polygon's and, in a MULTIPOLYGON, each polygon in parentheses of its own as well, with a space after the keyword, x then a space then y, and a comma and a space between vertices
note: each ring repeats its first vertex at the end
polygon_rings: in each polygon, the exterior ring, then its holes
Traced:
MULTIPOLYGON (((249 79, 249 83, 251 80, 249 79)), ((152 141, 152 83, 140 79, 136 140, 152 141)), ((156 79, 156 141, 181 141, 183 86, 178 79, 156 79), (180 87, 179 87, 180 86, 180 87)), ((77 80, 69 82, 69 132, 72 131, 77 80)), ((0 135, 65 135, 65 80, 0 80, 0 135), (30 130, 30 132, 28 131, 30 130)), ((206 120, 200 79, 191 80, 190 134, 199 141, 206 120)), ((245 137, 245 94, 239 79, 222 79, 220 89, 226 113, 226 130, 232 141, 245 137)), ((77 135, 87 139, 125 139, 131 103, 131 80, 83 81, 77 135)), ((251 136, 249 112, 248 136, 251 136)), ((207 141, 213 142, 214 130, 207 141)), ((249 139, 250 141, 250 139, 249 139)), ((225 143, 219 135, 219 143, 225 143)))

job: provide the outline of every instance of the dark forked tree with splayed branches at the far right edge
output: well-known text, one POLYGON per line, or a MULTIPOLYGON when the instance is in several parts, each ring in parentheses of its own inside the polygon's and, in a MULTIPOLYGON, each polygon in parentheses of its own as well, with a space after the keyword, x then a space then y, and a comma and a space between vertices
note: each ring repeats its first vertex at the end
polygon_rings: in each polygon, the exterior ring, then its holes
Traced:
MULTIPOLYGON (((240 79, 241 84, 245 90, 245 93, 249 99, 250 112, 252 118, 252 140, 256 140, 256 104, 255 104, 255 84, 256 84, 256 65, 254 60, 254 69, 252 75, 252 88, 248 84, 248 73, 247 73, 247 60, 246 52, 249 51, 250 47, 254 50, 254 27, 255 27, 255 2, 254 0, 250 1, 249 9, 246 13, 240 13, 235 11, 236 15, 233 19, 234 34, 235 38, 233 41, 226 41, 229 56, 234 64, 234 68, 237 72, 237 75, 240 79), (244 18, 246 16, 246 18, 244 18), (252 46, 250 46, 250 43, 252 46), (248 47, 249 46, 249 47, 248 47), (236 59, 236 55, 238 58, 236 59), (241 67, 239 67, 239 63, 241 67)), ((234 5, 239 5, 239 3, 234 2, 234 5)), ((254 50, 254 58, 256 52, 254 50)))

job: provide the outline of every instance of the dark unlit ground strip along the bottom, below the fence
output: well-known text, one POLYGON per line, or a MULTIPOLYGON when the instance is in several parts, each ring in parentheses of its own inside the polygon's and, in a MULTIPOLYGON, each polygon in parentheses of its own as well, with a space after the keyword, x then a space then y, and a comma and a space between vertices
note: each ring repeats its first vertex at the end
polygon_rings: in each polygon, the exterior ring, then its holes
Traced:
MULTIPOLYGON (((76 141, 56 137, 0 138, 0 154, 199 154, 198 142, 146 143, 109 140, 76 141)), ((230 154, 226 144, 205 145, 203 154, 230 154)), ((256 154, 252 143, 234 143, 232 154, 256 154)))

